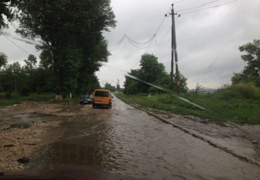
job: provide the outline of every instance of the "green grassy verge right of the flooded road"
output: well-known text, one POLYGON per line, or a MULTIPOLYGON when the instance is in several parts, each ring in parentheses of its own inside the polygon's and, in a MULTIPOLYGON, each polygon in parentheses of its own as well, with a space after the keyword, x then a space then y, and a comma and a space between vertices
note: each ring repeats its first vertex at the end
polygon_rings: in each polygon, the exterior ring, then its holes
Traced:
POLYGON ((139 104, 143 108, 151 107, 158 110, 166 110, 182 115, 196 115, 213 121, 230 120, 235 123, 260 123, 260 101, 244 98, 221 98, 221 94, 215 93, 183 93, 182 97, 205 107, 201 110, 183 100, 168 94, 137 94, 125 95, 114 93, 118 98, 127 102, 139 104))

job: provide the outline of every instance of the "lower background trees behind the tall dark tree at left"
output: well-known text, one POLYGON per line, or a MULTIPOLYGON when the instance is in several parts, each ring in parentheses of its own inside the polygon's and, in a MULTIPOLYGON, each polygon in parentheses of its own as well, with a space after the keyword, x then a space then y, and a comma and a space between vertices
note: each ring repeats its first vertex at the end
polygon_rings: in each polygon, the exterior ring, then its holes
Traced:
MULTIPOLYGON (((53 71, 42 64, 37 64, 36 57, 32 54, 24 60, 25 65, 19 62, 7 63, 7 56, 0 52, 0 92, 5 92, 9 97, 12 92, 28 95, 31 92, 55 92, 55 79, 53 71)), ((96 75, 89 75, 85 84, 85 92, 100 88, 96 75)), ((76 91, 80 89, 76 89, 76 91)), ((63 89, 63 96, 68 96, 69 91, 63 89)), ((81 93, 81 92, 80 92, 81 93)))

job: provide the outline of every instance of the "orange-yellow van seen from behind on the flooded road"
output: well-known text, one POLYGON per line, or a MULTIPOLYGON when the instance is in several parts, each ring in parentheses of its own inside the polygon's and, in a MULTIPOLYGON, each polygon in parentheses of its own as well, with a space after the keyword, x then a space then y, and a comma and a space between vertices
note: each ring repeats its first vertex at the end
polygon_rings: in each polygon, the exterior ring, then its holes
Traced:
POLYGON ((110 90, 107 89, 95 89, 93 93, 92 106, 107 106, 112 107, 112 98, 110 90))

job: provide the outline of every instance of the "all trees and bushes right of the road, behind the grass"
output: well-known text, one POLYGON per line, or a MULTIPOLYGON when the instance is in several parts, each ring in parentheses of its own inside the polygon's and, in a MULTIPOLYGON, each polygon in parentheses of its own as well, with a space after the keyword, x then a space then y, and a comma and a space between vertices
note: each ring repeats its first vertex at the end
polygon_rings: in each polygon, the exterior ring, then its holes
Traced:
MULTIPOLYGON (((260 98, 260 39, 253 40, 244 45, 239 46, 240 52, 245 52, 241 55, 242 60, 246 62, 246 66, 240 73, 234 73, 231 77, 231 84, 225 84, 219 87, 217 92, 227 98, 260 98)), ((164 92, 155 88, 146 81, 154 85, 170 89, 170 74, 165 71, 162 63, 159 63, 157 57, 153 54, 143 54, 140 59, 140 68, 131 69, 130 76, 125 75, 124 90, 126 94, 137 93, 158 93, 164 92), (137 80, 140 79, 140 80, 137 80)), ((180 74, 180 91, 187 92, 186 78, 180 74)), ((176 82, 174 74, 173 81, 176 82)), ((173 84, 173 91, 176 90, 176 83, 173 84)), ((199 90, 204 88, 197 83, 195 90, 192 93, 198 94, 199 90)))

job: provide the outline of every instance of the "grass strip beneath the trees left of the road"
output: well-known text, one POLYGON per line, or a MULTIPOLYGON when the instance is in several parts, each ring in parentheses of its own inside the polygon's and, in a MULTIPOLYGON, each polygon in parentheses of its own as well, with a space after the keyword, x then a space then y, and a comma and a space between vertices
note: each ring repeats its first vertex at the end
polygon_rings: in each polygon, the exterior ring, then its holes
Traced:
MULTIPOLYGON (((4 93, 0 93, 1 97, 4 97, 4 93)), ((74 97, 72 99, 63 98, 62 102, 74 102, 77 101, 79 98, 74 97)), ((18 104, 21 101, 29 100, 29 101, 48 101, 50 103, 57 103, 55 100, 55 93, 30 93, 27 96, 21 96, 19 94, 11 94, 9 98, 1 98, 0 99, 0 106, 8 106, 13 104, 18 104)))

